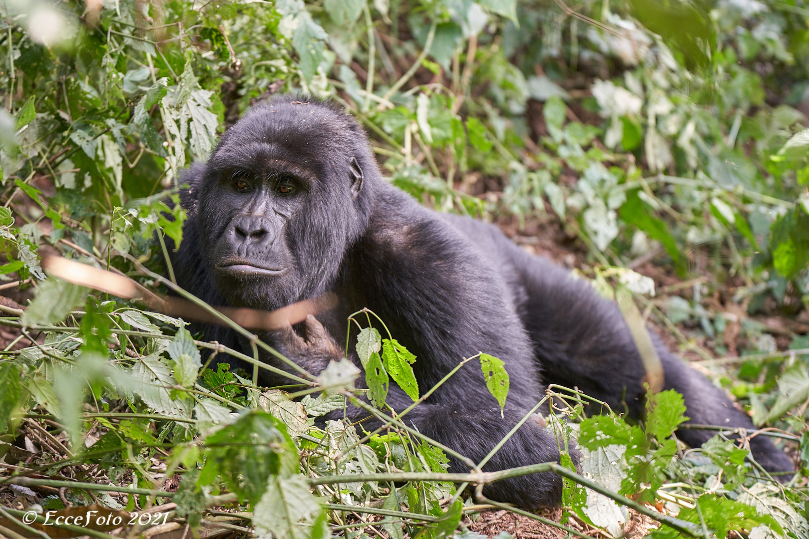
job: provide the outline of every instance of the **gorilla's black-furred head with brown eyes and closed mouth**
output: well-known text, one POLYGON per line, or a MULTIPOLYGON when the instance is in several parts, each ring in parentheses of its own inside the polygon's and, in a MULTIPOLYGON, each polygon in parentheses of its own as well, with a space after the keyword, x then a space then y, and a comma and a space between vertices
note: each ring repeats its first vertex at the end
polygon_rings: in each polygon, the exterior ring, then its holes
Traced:
POLYGON ((222 135, 199 186, 219 293, 276 309, 324 292, 367 225, 377 181, 365 132, 337 107, 289 95, 253 107, 222 135))

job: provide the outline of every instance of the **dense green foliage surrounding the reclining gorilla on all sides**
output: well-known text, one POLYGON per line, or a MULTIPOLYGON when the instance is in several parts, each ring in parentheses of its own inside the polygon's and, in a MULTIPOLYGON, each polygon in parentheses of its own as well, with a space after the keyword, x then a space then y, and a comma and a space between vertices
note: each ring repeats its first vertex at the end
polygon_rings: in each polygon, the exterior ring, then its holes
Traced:
MULTIPOLYGON (((477 539, 471 516, 501 506, 465 486, 551 470, 565 477, 553 525, 570 533, 617 537, 631 507, 663 522, 656 537, 809 538, 803 0, 9 0, 0 14, 0 495, 17 495, 0 499, 3 535, 34 537, 15 520, 34 502, 172 502, 151 524, 477 539), (410 367, 422 359, 367 327, 370 313, 347 322, 361 330, 351 346, 374 373, 369 414, 392 428, 366 433, 315 426, 353 398, 347 364, 257 387, 203 364, 201 349, 255 360, 194 340, 183 320, 105 293, 104 279, 46 276, 42 257, 58 254, 165 291, 180 171, 280 91, 344 105, 390 181, 424 204, 556 231, 631 325, 665 328, 769 427, 756 436, 791 440, 806 473, 781 486, 720 428, 684 448, 672 392, 650 394, 636 425, 586 418, 587 396, 553 387, 544 420, 563 450, 578 439, 581 474, 566 454, 446 474, 442 448, 384 406, 390 383, 427 394, 410 367)), ((470 360, 502 405, 508 365, 458 358, 470 360)))

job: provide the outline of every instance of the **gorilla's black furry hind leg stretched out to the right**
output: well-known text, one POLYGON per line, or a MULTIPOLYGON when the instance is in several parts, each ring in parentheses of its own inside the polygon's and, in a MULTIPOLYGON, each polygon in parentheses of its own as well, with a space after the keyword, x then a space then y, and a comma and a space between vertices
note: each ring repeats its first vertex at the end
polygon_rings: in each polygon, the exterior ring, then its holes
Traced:
MULTIPOLYGON (((546 259, 527 259, 518 253, 515 259, 526 297, 521 318, 544 368, 545 381, 576 386, 615 411, 626 406, 630 415, 640 417, 646 394, 645 369, 617 305, 546 259)), ((663 363, 665 388, 683 395, 689 423, 756 428, 722 390, 672 355, 654 335, 653 340, 663 363)), ((677 432, 694 447, 714 434, 697 429, 677 432)), ((752 438, 750 447, 752 457, 765 470, 794 470, 790 458, 765 436, 752 438)))

